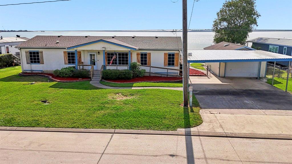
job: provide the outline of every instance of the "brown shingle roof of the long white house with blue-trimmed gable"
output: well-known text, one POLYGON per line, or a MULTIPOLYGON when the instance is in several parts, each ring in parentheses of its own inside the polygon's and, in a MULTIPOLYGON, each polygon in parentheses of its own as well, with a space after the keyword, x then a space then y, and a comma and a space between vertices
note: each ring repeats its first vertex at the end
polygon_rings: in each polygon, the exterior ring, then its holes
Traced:
POLYGON ((154 36, 35 36, 32 39, 18 45, 20 48, 68 48, 98 40, 106 40, 124 46, 139 49, 182 49, 180 37, 158 37, 154 36), (56 43, 59 41, 59 43, 56 43))

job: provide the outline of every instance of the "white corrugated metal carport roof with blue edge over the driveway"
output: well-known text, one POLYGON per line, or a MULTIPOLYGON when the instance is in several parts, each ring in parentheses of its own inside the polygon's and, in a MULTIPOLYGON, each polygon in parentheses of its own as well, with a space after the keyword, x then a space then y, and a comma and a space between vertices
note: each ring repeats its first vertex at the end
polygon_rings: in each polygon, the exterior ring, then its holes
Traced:
POLYGON ((187 50, 192 56, 187 56, 192 62, 264 62, 292 61, 292 56, 272 53, 262 50, 187 50))

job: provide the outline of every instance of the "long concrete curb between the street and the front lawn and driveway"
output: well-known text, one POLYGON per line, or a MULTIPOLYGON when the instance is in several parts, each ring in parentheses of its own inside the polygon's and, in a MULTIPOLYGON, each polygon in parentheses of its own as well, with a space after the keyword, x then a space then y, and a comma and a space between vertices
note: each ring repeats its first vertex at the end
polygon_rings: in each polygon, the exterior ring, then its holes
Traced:
POLYGON ((31 132, 77 132, 77 133, 110 133, 110 134, 116 133, 116 134, 141 134, 141 135, 180 135, 180 136, 202 136, 202 137, 230 137, 230 138, 292 140, 292 135, 224 133, 224 132, 190 132, 190 131, 122 130, 122 129, 78 129, 78 128, 38 128, 38 127, 9 127, 9 126, 0 126, 0 130, 31 131, 31 132))

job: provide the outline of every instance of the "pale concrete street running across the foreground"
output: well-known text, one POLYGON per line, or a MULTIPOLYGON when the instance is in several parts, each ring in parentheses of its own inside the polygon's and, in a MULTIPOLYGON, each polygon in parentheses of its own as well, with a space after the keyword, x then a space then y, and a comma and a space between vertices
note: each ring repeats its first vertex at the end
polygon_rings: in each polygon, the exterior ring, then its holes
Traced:
POLYGON ((0 131, 0 163, 292 163, 292 140, 0 131))

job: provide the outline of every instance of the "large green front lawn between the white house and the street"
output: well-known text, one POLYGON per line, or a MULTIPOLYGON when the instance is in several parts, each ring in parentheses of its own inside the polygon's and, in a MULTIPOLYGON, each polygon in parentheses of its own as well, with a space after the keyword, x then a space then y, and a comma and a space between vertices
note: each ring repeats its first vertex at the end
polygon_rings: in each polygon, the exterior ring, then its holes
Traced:
POLYGON ((18 76, 20 71, 20 66, 0 69, 0 126, 176 130, 203 122, 194 96, 194 108, 180 106, 182 91, 48 83, 44 77, 18 76))

